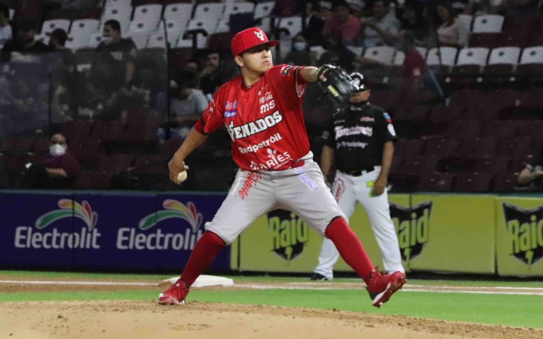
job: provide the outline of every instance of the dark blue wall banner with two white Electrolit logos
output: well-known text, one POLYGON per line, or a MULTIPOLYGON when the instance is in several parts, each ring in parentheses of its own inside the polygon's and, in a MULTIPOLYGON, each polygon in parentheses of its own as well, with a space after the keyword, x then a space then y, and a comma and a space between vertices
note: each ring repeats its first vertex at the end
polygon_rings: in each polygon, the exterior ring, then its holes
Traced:
MULTIPOLYGON (((0 267, 181 271, 223 194, 2 193, 0 267)), ((230 270, 230 248, 210 270, 230 270)))

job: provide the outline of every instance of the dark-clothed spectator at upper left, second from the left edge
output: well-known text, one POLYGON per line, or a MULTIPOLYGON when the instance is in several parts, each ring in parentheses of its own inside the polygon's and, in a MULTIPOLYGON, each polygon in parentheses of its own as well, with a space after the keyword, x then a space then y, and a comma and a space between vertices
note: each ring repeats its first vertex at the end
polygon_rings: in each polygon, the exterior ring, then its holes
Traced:
POLYGON ((19 33, 17 39, 13 39, 4 44, 0 62, 8 62, 11 59, 11 53, 46 53, 49 52, 47 45, 41 41, 36 41, 37 29, 34 21, 30 18, 23 18, 19 23, 19 33))

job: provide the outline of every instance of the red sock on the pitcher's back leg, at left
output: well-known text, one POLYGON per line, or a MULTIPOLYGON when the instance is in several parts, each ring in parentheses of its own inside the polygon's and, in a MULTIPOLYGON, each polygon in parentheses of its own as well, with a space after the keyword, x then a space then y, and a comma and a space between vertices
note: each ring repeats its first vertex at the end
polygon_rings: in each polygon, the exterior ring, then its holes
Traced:
POLYGON ((185 270, 181 273, 181 280, 190 287, 196 278, 206 270, 219 251, 225 246, 223 239, 213 232, 206 231, 194 245, 191 257, 188 258, 185 270))

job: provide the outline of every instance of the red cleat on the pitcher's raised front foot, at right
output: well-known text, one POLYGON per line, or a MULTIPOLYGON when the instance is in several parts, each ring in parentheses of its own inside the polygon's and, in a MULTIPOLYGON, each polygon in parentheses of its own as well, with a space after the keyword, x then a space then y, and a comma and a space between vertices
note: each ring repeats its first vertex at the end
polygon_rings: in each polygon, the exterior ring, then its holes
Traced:
POLYGON ((380 308, 405 283, 405 273, 396 271, 390 274, 382 274, 377 272, 377 267, 375 267, 371 270, 370 282, 366 287, 366 290, 370 293, 370 298, 373 300, 371 304, 376 308, 380 308))

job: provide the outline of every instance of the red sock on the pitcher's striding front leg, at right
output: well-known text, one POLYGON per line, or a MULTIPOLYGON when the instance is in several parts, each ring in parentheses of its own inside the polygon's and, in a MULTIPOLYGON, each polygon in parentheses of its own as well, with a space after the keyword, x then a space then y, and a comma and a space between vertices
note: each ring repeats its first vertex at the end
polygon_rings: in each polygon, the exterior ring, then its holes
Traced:
POLYGON ((356 274, 368 284, 374 266, 371 264, 368 254, 364 251, 362 243, 345 220, 341 217, 332 220, 326 228, 325 234, 336 245, 345 263, 351 266, 356 274))

